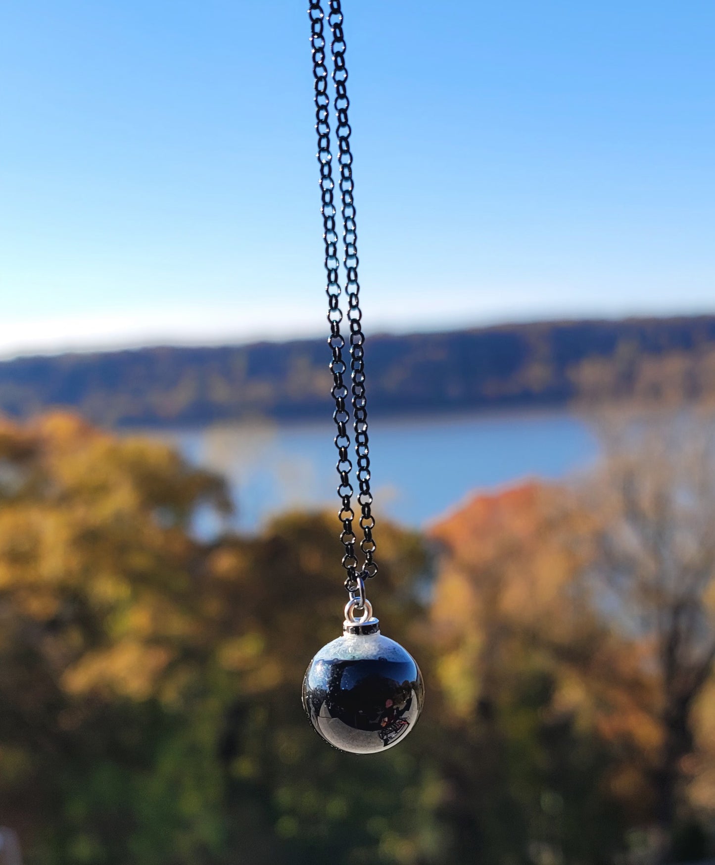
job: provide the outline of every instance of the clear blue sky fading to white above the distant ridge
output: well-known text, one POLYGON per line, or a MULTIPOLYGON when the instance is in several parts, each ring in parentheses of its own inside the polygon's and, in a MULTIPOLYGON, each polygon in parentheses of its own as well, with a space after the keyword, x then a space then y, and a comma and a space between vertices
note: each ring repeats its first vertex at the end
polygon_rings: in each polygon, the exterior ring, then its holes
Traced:
MULTIPOLYGON (((322 332, 304 0, 0 10, 0 354, 322 332)), ((366 329, 715 311, 715 3, 344 0, 366 329)))

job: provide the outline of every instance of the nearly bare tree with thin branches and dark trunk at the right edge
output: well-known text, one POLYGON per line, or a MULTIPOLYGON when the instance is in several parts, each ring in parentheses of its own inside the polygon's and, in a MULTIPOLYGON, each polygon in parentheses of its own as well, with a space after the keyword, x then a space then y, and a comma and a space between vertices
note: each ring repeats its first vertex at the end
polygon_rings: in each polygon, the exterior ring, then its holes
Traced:
POLYGON ((715 437, 711 419, 687 413, 610 425, 604 445, 587 488, 599 521, 591 576, 654 671, 654 817, 670 836, 686 816, 695 709, 715 661, 715 437))

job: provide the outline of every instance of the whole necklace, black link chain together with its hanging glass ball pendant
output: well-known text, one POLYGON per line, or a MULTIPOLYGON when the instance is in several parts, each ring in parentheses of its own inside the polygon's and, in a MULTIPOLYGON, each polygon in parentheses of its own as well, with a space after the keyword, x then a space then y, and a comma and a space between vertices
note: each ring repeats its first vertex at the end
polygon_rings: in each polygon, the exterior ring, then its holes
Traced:
POLYGON ((342 637, 323 646, 306 670, 303 679, 303 707, 310 722, 322 738, 342 751, 376 753, 396 745, 405 738, 418 719, 424 702, 425 689, 417 663, 401 645, 380 633, 380 622, 373 617, 373 606, 365 595, 365 582, 377 573, 374 561, 375 541, 372 515, 373 495, 370 491, 370 456, 367 438, 367 399, 363 363, 365 336, 362 333, 360 284, 358 283, 357 231, 355 224, 353 154, 350 151, 345 38, 342 29, 340 0, 329 0, 329 27, 333 40, 332 79, 335 86, 335 116, 337 127, 337 163, 340 169, 343 265, 348 297, 347 318, 350 325, 350 409, 353 417, 355 478, 359 486, 356 502, 360 506, 362 540, 359 566, 353 521, 354 489, 350 483, 353 464, 349 456, 348 385, 344 376, 348 367, 343 359, 345 339, 341 333, 343 319, 340 307, 341 285, 338 259, 338 234, 335 223, 335 181, 330 152, 328 67, 326 39, 321 0, 310 3, 310 42, 315 78, 316 131, 318 163, 320 164, 321 213, 325 241, 325 270, 328 275, 328 344, 332 351, 330 371, 333 374, 331 394, 335 400, 335 447, 338 452, 337 471, 340 477, 338 496, 341 498, 339 518, 342 522, 340 539, 345 554, 342 567, 347 578, 345 588, 349 599, 345 606, 342 637))

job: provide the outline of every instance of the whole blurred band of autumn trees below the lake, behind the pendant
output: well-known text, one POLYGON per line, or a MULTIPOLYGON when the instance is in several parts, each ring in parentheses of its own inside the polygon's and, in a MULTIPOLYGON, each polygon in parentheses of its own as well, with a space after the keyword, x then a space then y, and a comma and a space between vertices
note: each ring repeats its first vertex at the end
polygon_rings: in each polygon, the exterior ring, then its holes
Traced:
POLYGON ((428 693, 364 759, 299 696, 341 626, 334 515, 199 541, 227 490, 169 446, 3 422, 0 813, 25 861, 708 855, 715 460, 707 424, 656 426, 606 436, 573 483, 474 497, 423 536, 380 524, 371 596, 428 693))

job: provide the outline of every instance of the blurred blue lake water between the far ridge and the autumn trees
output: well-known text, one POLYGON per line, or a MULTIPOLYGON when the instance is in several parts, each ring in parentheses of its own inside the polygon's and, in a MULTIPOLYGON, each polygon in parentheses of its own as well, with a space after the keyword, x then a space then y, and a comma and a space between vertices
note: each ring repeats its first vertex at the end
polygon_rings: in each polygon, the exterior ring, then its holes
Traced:
MULTIPOLYGON (((333 434, 328 417, 320 423, 237 423, 158 435, 195 465, 227 477, 236 505, 233 524, 255 531, 287 509, 337 508, 333 434)), ((597 450, 588 422, 570 413, 377 418, 370 424, 374 510, 422 527, 476 490, 527 477, 564 477, 587 465, 597 450)), ((213 527, 205 521, 201 534, 210 534, 213 527)))

